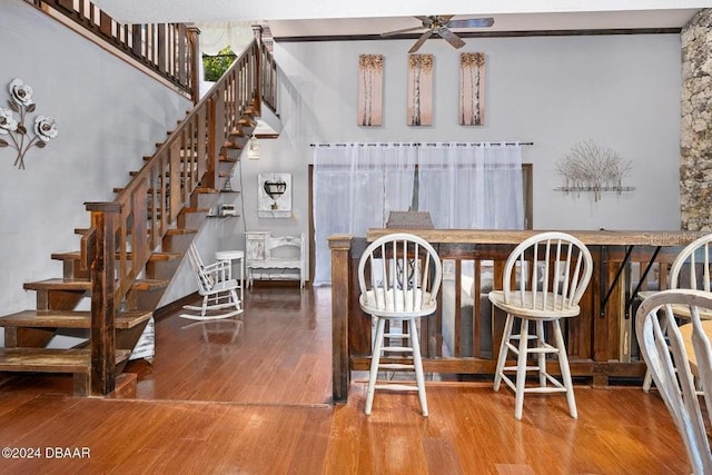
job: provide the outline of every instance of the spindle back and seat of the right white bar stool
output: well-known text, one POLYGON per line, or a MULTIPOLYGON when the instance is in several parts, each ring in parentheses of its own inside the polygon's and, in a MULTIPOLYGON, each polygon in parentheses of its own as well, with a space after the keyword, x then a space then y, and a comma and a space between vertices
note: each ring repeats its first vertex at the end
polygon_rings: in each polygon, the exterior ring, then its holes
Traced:
POLYGON ((505 301, 532 310, 566 310, 578 305, 593 259, 581 240, 560 231, 540 232, 522 241, 504 266, 505 301))

